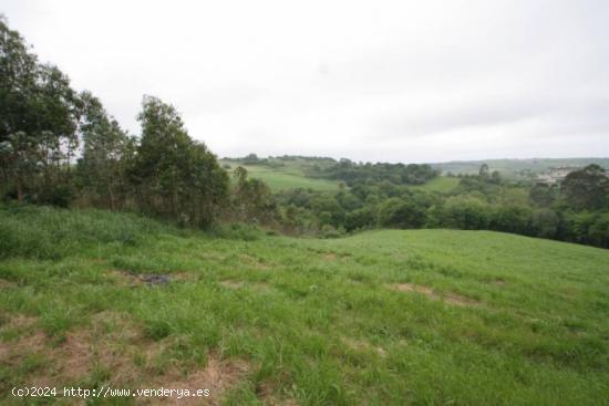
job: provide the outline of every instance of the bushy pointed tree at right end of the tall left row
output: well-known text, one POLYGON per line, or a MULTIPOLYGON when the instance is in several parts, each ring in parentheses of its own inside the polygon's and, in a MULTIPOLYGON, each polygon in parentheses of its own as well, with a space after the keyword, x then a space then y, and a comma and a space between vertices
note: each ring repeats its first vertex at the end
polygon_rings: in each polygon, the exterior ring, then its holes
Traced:
POLYGON ((207 147, 193 140, 174 106, 144 96, 142 140, 131 179, 141 208, 183 225, 208 227, 228 198, 228 175, 207 147))

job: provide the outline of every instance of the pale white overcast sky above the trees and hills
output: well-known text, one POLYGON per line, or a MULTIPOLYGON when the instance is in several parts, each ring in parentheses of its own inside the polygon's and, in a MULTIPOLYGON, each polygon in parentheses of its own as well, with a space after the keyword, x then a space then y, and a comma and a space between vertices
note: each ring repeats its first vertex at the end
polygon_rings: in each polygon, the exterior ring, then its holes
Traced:
POLYGON ((219 156, 609 156, 609 1, 28 1, 0 12, 133 134, 219 156))

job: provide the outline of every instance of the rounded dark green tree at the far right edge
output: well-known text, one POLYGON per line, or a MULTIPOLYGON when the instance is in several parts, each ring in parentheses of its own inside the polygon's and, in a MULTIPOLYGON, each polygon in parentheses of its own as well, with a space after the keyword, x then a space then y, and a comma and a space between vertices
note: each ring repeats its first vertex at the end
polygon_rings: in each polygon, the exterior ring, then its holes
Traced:
POLYGON ((562 181, 562 194, 576 210, 597 210, 607 204, 609 177, 598 165, 571 171, 562 181))

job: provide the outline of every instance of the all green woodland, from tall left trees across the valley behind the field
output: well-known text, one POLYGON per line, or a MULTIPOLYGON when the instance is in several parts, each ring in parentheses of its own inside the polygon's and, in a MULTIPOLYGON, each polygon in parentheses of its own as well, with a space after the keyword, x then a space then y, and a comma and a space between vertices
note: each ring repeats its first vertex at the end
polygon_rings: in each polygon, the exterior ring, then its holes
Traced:
MULTIPOLYGON (((14 205, 136 211, 180 226, 250 223, 337 237, 372 228, 498 230, 609 248, 609 177, 598 165, 560 184, 504 179, 483 164, 450 192, 415 189, 430 165, 311 158, 307 176, 339 191, 272 194, 217 157, 185 128, 176 107, 145 95, 138 136, 90 92, 74 90, 0 19, 0 196, 14 205)), ((293 157, 292 157, 293 158, 293 157)), ((290 157, 282 157, 289 160, 290 157)), ((242 165, 281 165, 251 154, 242 165)))

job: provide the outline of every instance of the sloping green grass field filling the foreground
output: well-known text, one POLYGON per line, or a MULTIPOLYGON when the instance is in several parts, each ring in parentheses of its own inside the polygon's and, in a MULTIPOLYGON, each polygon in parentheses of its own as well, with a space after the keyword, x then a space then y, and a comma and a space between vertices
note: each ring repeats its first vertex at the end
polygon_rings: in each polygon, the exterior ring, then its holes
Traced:
POLYGON ((600 405, 608 313, 609 251, 590 247, 0 209, 8 405, 22 385, 208 388, 226 405, 600 405))

